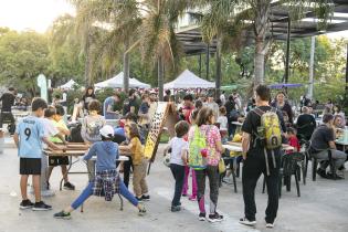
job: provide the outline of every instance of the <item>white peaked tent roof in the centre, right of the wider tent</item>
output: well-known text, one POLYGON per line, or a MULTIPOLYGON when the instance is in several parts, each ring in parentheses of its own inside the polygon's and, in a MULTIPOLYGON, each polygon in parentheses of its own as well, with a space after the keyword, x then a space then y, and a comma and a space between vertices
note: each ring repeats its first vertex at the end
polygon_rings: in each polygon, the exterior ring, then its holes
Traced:
POLYGON ((165 84, 165 88, 214 88, 215 83, 198 77, 189 70, 183 71, 175 81, 165 84))

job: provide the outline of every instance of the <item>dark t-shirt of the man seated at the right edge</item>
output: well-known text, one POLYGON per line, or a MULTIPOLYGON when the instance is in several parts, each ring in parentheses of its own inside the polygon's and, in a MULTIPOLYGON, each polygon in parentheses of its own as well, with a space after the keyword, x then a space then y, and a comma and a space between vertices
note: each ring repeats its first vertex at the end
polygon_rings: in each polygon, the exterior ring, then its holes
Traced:
POLYGON ((320 125, 316 128, 310 138, 310 147, 315 151, 325 150, 329 148, 329 141, 334 141, 334 129, 326 125, 320 125))

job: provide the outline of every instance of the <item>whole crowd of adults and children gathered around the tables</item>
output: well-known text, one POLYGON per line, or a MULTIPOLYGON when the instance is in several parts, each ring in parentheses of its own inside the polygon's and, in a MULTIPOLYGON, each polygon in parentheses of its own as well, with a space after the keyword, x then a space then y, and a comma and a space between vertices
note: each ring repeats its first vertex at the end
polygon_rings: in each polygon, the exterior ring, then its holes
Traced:
MULTIPOLYGON (((13 88, 9 88, 9 93, 1 97, 1 118, 6 113, 11 113, 15 99, 13 92, 13 88)), ((66 144, 66 138, 76 141, 64 117, 66 99, 55 98, 51 106, 48 106, 42 98, 34 98, 31 104, 32 114, 20 120, 15 128, 13 138, 20 157, 21 209, 52 209, 41 200, 43 144, 52 149, 62 149, 61 146, 66 144), (27 194, 29 176, 33 176, 34 203, 27 194)), ((171 92, 167 91, 165 101, 175 102, 175 99, 171 92)), ((157 109, 157 92, 130 89, 126 99, 122 99, 120 92, 117 89, 104 103, 99 103, 94 88, 87 87, 82 102, 77 99, 75 104, 78 116, 83 117, 78 131, 81 141, 89 146, 88 152, 83 157, 87 162, 89 183, 71 205, 55 213, 54 217, 71 218, 71 212, 92 194, 103 194, 105 200, 109 201, 116 193, 124 196, 138 209, 139 214, 144 215, 146 209, 141 202, 150 200, 150 190, 146 180, 148 160, 144 156, 144 146, 157 109), (108 119, 119 119, 119 126, 108 126, 106 124, 108 119), (129 160, 116 162, 119 154, 128 154, 129 160), (91 160, 92 156, 97 157, 96 164, 91 160), (130 170, 133 170, 134 193, 128 190, 130 170)), ((229 156, 229 151, 226 152, 222 145, 236 137, 241 138, 243 150, 240 159, 243 160, 244 217, 240 220, 242 224, 256 224, 254 191, 260 176, 264 173, 268 193, 265 221, 267 228, 274 226, 278 208, 282 144, 289 144, 294 147, 294 151, 300 151, 300 145, 309 141, 308 149, 312 156, 321 161, 317 170, 318 175, 329 179, 339 178, 333 170, 327 171, 327 168, 329 159, 335 161, 337 168, 345 168, 347 155, 345 151, 339 151, 335 144, 339 136, 338 129, 346 126, 344 113, 339 106, 328 103, 323 114, 323 123, 318 126, 312 112, 310 101, 304 96, 300 104, 302 114, 296 116, 286 94, 278 92, 272 99, 271 89, 265 85, 257 86, 254 97, 244 104, 236 92, 229 96, 222 92, 219 99, 214 99, 209 93, 186 94, 182 102, 176 103, 178 120, 175 126, 176 136, 165 149, 165 154, 170 154, 169 167, 175 179, 171 211, 180 211, 180 199, 188 197, 189 200, 198 202, 199 220, 210 222, 223 220, 217 208, 220 179, 221 175, 225 176, 225 171, 219 172, 219 166, 221 158, 229 156), (271 135, 273 136, 271 143, 267 133, 270 120, 273 128, 276 128, 271 135), (236 129, 239 124, 242 125, 241 131, 236 129), (189 193, 190 177, 192 182, 189 193), (207 177, 210 188, 209 213, 204 202, 207 177)), ((44 167, 48 180, 45 188, 51 188, 52 170, 60 166, 64 177, 64 188, 75 189, 68 180, 66 165, 68 165, 66 157, 50 157, 49 166, 44 167)))

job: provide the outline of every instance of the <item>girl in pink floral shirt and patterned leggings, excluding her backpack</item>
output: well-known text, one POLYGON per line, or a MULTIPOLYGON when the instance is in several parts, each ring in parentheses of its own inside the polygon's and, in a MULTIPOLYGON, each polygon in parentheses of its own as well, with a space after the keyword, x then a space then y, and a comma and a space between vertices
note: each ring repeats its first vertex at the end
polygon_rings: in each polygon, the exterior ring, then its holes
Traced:
POLYGON ((198 186, 198 207, 199 207, 199 220, 205 220, 205 203, 204 203, 204 191, 205 191, 205 177, 209 179, 210 187, 210 214, 208 220, 210 222, 222 221, 223 217, 217 212, 217 204, 219 198, 219 160, 221 154, 224 151, 221 143, 221 136, 219 128, 214 126, 215 114, 210 107, 203 107, 198 113, 197 126, 191 127, 189 131, 189 143, 194 138, 196 129, 199 129, 201 135, 207 135, 207 149, 208 152, 208 166, 202 170, 194 170, 196 180, 198 186))

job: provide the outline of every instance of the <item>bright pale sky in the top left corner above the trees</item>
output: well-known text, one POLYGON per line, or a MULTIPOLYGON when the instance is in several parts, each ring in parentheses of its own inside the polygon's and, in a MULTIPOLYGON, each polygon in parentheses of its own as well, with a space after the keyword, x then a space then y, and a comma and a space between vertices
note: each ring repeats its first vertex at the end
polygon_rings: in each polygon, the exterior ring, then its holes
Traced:
POLYGON ((54 19, 74 13, 66 0, 0 0, 0 27, 45 32, 54 19))

